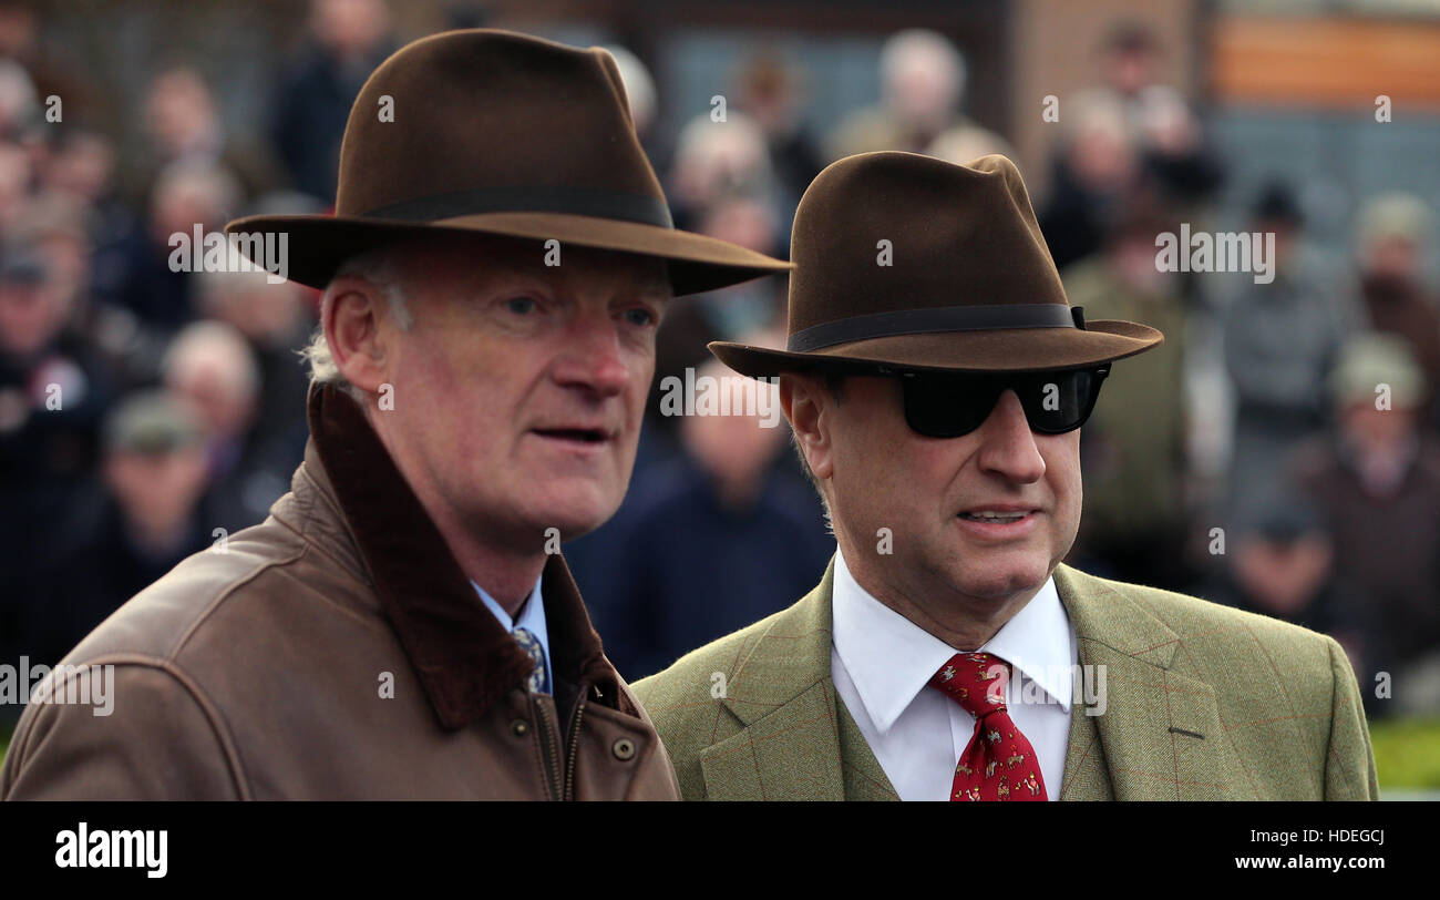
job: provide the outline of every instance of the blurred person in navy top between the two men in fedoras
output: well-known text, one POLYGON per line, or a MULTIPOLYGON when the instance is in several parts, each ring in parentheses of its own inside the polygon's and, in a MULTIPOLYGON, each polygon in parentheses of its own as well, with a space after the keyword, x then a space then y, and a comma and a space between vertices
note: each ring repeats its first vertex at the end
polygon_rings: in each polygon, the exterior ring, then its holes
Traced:
MULTIPOLYGON (((740 337, 783 343, 773 333, 740 337)), ((635 478, 616 527, 592 536, 600 547, 585 559, 595 566, 576 562, 605 652, 625 678, 779 612, 835 550, 814 491, 783 465, 792 459, 775 386, 747 384, 713 359, 694 370, 701 377, 717 379, 733 403, 744 390, 766 396, 732 415, 678 416, 680 455, 635 478)))

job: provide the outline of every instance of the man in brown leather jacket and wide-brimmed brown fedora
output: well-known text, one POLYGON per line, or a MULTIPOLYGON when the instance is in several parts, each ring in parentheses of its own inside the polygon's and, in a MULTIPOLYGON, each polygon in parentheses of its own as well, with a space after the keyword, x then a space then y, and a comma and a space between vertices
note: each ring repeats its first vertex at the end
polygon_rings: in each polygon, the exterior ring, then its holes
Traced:
POLYGON ((670 297, 786 264, 671 226, 608 53, 487 30, 376 69, 334 216, 226 230, 324 288, 305 461, 40 684, 0 796, 678 798, 559 543, 624 497, 670 297))

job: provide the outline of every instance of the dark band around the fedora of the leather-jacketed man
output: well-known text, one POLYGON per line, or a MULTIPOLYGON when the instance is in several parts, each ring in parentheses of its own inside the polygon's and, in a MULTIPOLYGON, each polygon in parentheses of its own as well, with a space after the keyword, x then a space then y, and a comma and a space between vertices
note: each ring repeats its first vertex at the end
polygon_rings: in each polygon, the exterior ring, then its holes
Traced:
POLYGON ((595 219, 618 219, 657 228, 675 228, 670 207, 658 197, 585 187, 477 187, 416 197, 364 213, 367 219, 435 222, 481 213, 569 213, 595 219))

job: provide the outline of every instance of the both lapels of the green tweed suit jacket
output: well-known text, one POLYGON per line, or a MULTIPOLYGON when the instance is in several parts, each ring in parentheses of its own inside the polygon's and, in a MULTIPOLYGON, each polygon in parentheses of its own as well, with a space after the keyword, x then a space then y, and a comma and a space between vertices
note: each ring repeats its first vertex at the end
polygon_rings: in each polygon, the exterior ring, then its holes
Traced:
MULTIPOLYGON (((845 799, 857 785, 894 796, 831 680, 834 576, 831 560, 727 672, 721 703, 743 729, 701 753, 708 798, 845 799)), ((1080 662, 1106 667, 1107 693, 1102 714, 1071 706, 1061 799, 1224 799, 1214 688, 1172 671, 1179 636, 1103 579, 1063 563, 1054 579, 1080 662)))

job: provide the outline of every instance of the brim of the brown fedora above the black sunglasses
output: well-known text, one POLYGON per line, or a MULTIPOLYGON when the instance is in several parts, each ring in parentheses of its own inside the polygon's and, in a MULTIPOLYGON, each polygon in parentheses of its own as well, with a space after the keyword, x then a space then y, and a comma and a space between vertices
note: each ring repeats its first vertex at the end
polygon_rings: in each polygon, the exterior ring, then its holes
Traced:
POLYGON ((812 353, 770 350, 730 341, 708 344, 726 366, 750 377, 806 369, 916 372, 1044 372, 1079 369, 1143 353, 1164 343, 1149 325, 1120 320, 1087 321, 1079 328, 1005 328, 896 334, 825 347, 812 353))

